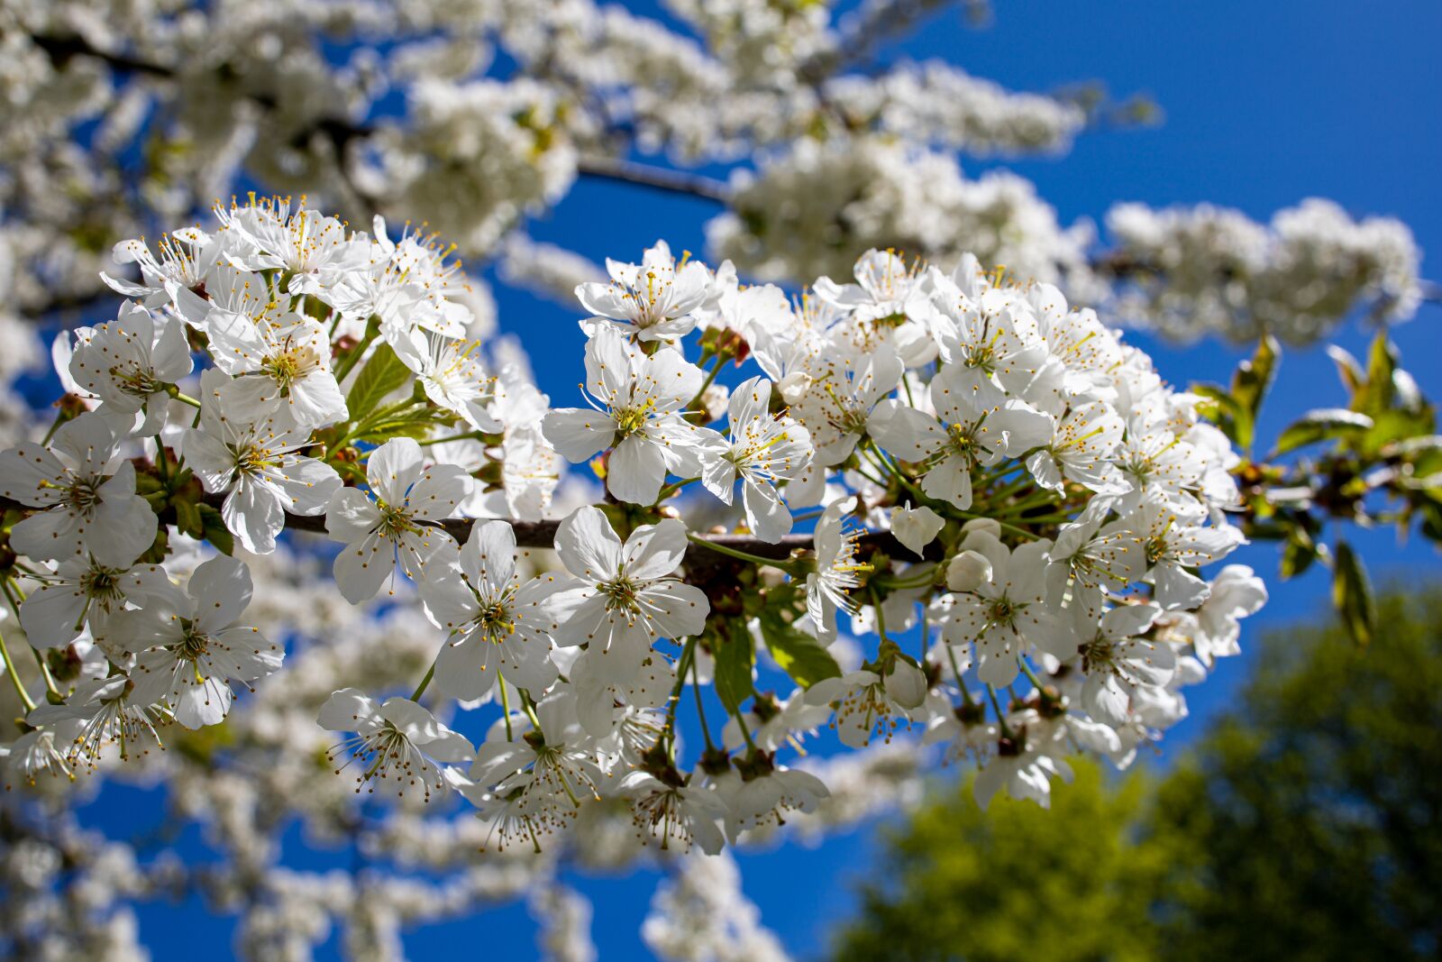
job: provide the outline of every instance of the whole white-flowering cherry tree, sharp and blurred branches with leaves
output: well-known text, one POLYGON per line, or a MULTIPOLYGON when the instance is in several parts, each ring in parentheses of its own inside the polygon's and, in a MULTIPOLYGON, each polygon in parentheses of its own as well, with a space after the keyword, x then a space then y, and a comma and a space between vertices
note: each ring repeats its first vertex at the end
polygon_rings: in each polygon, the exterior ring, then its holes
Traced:
POLYGON ((333 923, 398 958, 513 899, 588 958, 559 874, 650 860, 658 955, 784 958, 733 850, 946 760, 1047 805, 1240 650, 1239 545, 1328 564, 1364 642, 1345 525, 1442 538, 1384 327, 1337 408, 1256 437, 1282 342, 1435 296, 1407 228, 1063 225, 957 156, 1139 104, 877 66, 943 3, 102 6, 0 10, 0 374, 43 332, 55 378, 0 451, 17 949, 120 955, 127 901, 199 890, 255 958, 333 923), (708 251, 531 239, 580 177, 712 203, 708 251), (575 392, 493 336, 479 265, 574 309, 575 392), (1120 326, 1257 346, 1184 388, 1120 326), (147 777, 219 864, 72 811, 147 777), (288 867, 297 821, 368 870, 288 867))

